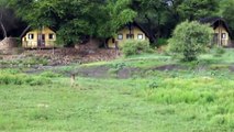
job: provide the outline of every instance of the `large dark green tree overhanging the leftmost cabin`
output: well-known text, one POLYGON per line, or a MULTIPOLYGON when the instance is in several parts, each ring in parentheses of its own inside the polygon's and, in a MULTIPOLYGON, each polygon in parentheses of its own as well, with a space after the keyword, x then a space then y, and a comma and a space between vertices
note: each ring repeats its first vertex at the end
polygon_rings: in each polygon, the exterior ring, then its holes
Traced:
POLYGON ((33 28, 52 26, 58 42, 80 43, 82 35, 93 35, 99 4, 102 0, 11 0, 10 6, 33 28))

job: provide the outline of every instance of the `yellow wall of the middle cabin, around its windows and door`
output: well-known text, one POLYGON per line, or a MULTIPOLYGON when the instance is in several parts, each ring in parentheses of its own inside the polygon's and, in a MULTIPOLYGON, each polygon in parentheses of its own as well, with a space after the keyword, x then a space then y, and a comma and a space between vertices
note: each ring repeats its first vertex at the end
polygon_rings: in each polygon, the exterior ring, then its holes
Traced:
MULTIPOLYGON (((126 35, 130 34, 130 30, 127 28, 122 29, 121 31, 118 32, 116 36, 113 38, 109 38, 108 40, 108 46, 111 48, 115 47, 115 41, 118 42, 118 45, 121 46, 123 44, 124 41, 127 40, 126 35), (123 38, 120 40, 118 38, 118 36, 122 34, 123 38)), ((145 33, 137 26, 133 26, 133 29, 131 30, 131 34, 134 35, 134 38, 132 40, 148 40, 147 36, 145 35, 145 33), (138 35, 142 34, 142 38, 138 38, 138 35)))

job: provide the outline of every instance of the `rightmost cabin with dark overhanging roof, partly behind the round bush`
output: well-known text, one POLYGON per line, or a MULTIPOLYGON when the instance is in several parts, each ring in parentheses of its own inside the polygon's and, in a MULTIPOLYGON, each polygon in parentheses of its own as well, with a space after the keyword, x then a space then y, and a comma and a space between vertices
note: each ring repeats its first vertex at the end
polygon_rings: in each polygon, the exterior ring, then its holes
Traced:
POLYGON ((219 16, 204 18, 200 20, 201 23, 209 23, 213 28, 212 44, 219 46, 232 46, 231 31, 224 19, 219 16))

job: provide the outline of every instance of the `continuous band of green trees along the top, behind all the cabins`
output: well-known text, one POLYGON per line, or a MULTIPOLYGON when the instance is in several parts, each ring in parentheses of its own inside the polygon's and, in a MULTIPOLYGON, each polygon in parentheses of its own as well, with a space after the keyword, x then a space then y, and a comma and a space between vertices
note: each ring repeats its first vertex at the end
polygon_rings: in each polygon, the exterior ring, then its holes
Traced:
MULTIPOLYGON (((204 16, 222 15, 234 29, 233 0, 0 0, 32 28, 49 26, 66 45, 91 37, 116 35, 123 25, 136 21, 152 43, 170 37, 177 24, 204 16)), ((4 8, 1 8, 4 9, 4 8)), ((10 15, 9 15, 10 16, 10 15)), ((7 22, 10 23, 10 22, 7 22)))

